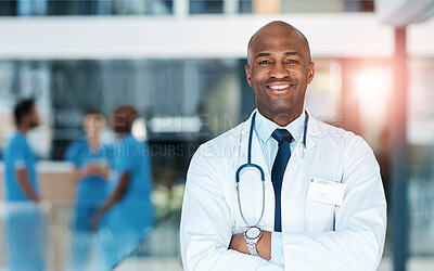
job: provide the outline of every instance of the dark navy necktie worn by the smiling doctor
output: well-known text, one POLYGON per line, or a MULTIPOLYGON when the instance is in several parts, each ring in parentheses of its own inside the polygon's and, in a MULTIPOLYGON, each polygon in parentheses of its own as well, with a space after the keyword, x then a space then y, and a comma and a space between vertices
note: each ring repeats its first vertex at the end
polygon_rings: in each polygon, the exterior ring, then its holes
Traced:
POLYGON ((286 169, 288 162, 291 157, 290 143, 293 140, 291 133, 285 129, 276 129, 271 137, 279 142, 278 154, 271 169, 271 182, 275 188, 275 231, 282 231, 281 219, 281 191, 283 175, 286 169))

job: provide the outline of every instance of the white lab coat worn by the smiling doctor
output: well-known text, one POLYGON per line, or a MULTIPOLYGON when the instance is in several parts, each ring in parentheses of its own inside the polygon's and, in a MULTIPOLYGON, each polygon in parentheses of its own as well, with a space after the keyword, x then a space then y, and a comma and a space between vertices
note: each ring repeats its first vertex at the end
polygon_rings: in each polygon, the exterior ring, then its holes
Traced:
MULTIPOLYGON (((187 175, 180 242, 184 270, 283 270, 259 257, 228 249, 232 234, 245 231, 235 171, 246 163, 252 116, 201 145, 187 175)), ((284 270, 375 270, 384 247, 386 202, 372 150, 352 132, 310 117, 306 152, 298 140, 282 184, 284 270), (309 180, 346 184, 341 206, 308 201, 309 180)), ((266 173, 263 229, 272 231, 275 193, 256 133, 252 162, 266 173)), ((241 203, 250 223, 261 211, 259 180, 243 180, 241 203)), ((242 184, 240 184, 242 185, 242 184)))

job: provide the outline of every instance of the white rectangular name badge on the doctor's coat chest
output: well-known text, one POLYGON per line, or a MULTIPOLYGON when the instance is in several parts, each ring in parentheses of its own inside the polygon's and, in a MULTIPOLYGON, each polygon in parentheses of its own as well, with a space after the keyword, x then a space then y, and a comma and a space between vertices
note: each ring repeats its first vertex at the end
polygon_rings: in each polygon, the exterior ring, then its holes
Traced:
POLYGON ((346 184, 320 179, 310 179, 307 199, 319 203, 342 205, 346 184))

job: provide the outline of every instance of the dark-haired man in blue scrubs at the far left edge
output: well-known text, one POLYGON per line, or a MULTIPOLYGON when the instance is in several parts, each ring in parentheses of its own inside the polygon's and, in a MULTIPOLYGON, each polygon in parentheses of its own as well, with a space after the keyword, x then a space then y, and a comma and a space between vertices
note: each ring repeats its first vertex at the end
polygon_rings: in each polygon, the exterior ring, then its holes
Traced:
POLYGON ((26 136, 39 125, 34 100, 15 105, 16 131, 4 150, 9 270, 44 270, 44 221, 36 155, 26 136))

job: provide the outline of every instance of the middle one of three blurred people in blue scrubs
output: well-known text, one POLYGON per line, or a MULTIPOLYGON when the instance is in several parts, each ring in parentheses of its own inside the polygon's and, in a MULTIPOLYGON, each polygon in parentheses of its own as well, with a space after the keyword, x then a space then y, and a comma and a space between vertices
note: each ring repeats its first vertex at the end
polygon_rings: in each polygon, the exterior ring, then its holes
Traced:
POLYGON ((76 182, 72 225, 73 270, 82 269, 89 261, 92 242, 91 219, 107 196, 110 146, 101 142, 101 131, 105 122, 102 113, 88 111, 82 121, 86 137, 74 141, 65 153, 65 159, 74 165, 72 176, 76 182))

